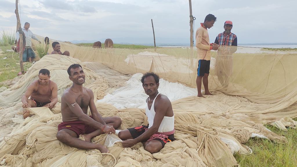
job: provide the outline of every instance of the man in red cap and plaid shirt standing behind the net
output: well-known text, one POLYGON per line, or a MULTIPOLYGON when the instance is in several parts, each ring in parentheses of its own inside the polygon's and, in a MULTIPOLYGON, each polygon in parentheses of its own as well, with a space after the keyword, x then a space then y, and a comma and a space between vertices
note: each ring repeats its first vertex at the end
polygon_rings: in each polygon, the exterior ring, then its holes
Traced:
POLYGON ((220 33, 214 43, 220 45, 215 61, 215 71, 222 87, 228 87, 229 79, 233 75, 232 53, 237 50, 237 37, 231 33, 232 21, 225 21, 225 31, 220 33))

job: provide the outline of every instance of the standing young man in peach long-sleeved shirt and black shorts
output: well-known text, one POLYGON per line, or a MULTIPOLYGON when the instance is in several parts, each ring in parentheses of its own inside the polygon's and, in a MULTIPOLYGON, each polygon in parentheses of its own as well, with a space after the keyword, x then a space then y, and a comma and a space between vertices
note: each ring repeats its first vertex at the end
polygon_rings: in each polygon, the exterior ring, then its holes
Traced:
POLYGON ((198 97, 203 97, 201 94, 201 83, 203 82, 204 90, 206 95, 213 95, 208 90, 208 75, 210 68, 210 51, 217 50, 219 46, 217 44, 213 44, 212 46, 209 43, 208 31, 212 26, 214 26, 214 22, 217 20, 216 17, 212 14, 208 14, 204 23, 200 23, 201 26, 196 31, 196 48, 198 55, 198 69, 197 69, 197 91, 198 97))

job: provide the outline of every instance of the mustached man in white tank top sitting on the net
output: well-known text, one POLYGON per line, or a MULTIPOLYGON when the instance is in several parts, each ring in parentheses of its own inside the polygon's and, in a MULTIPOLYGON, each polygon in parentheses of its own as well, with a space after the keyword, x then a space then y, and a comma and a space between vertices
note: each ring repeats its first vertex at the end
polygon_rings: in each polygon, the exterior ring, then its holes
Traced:
POLYGON ((149 125, 129 128, 119 132, 119 138, 124 147, 131 147, 143 142, 143 147, 150 153, 160 151, 166 143, 174 141, 174 114, 171 102, 167 96, 158 92, 159 76, 146 73, 141 78, 146 99, 146 116, 149 125))

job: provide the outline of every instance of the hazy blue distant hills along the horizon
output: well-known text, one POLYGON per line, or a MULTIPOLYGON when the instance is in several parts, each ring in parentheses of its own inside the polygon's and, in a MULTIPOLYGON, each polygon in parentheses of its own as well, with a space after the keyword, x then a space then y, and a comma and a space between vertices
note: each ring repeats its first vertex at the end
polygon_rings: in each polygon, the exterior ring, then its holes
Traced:
MULTIPOLYGON (((101 38, 98 40, 72 40, 69 41, 71 43, 94 43, 96 41, 100 41, 104 45, 104 41, 106 38, 101 38)), ((113 43, 117 44, 134 44, 134 45, 146 45, 146 46, 154 46, 154 38, 111 38, 113 43)), ((157 46, 190 46, 190 41, 188 38, 164 38, 158 37, 156 38, 157 46)), ((195 45, 195 42, 194 42, 195 45)), ((238 44, 242 45, 297 45, 297 43, 242 43, 238 44)))

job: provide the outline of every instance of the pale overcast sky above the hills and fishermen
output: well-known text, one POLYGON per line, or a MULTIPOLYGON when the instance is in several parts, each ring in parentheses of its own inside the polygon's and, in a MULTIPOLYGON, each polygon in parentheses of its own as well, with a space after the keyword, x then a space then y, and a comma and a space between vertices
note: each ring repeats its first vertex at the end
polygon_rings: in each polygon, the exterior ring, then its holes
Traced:
MULTIPOLYGON (((210 42, 226 20, 238 43, 297 42, 296 0, 192 0, 195 30, 207 14, 217 17, 210 42)), ((15 0, 0 0, 0 29, 16 29, 15 0)), ((22 26, 51 39, 96 40, 119 37, 189 38, 188 0, 20 0, 22 26)), ((178 41, 177 41, 178 42, 178 41)))

